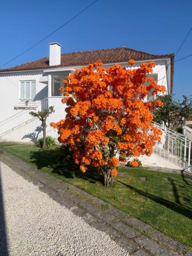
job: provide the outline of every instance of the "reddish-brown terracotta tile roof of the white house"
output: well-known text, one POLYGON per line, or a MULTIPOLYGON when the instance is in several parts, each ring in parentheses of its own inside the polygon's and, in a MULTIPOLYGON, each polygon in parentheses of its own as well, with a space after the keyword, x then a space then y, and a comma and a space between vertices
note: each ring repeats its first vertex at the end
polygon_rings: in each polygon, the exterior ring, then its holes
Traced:
POLYGON ((171 88, 173 87, 173 74, 174 74, 174 54, 156 55, 146 52, 141 52, 126 47, 101 49, 94 51, 82 51, 73 53, 61 54, 61 65, 49 66, 49 56, 41 58, 35 61, 27 62, 22 65, 18 65, 8 69, 1 69, 0 72, 9 71, 25 71, 25 70, 36 70, 36 69, 50 69, 56 67, 66 66, 79 66, 87 65, 90 62, 101 60, 103 63, 110 62, 126 62, 129 59, 134 60, 147 60, 147 59, 160 59, 170 58, 171 59, 171 88))

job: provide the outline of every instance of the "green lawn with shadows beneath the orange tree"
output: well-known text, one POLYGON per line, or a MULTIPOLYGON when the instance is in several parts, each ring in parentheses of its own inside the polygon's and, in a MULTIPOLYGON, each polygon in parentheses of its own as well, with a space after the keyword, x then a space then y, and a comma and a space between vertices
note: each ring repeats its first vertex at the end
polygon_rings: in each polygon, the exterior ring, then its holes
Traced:
POLYGON ((60 147, 40 150, 35 145, 2 142, 0 148, 192 246, 192 183, 185 180, 189 177, 119 167, 123 176, 117 176, 113 187, 106 188, 95 169, 81 173, 60 147), (147 181, 140 177, 147 177, 147 181))

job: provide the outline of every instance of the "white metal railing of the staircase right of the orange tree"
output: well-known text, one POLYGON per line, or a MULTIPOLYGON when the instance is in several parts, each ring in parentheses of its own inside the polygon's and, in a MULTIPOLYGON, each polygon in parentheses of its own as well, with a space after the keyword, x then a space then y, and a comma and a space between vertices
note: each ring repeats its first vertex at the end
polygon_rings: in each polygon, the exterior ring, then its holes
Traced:
POLYGON ((165 127, 164 124, 153 122, 162 131, 161 141, 156 141, 153 152, 172 162, 187 172, 192 171, 191 141, 184 135, 165 127))

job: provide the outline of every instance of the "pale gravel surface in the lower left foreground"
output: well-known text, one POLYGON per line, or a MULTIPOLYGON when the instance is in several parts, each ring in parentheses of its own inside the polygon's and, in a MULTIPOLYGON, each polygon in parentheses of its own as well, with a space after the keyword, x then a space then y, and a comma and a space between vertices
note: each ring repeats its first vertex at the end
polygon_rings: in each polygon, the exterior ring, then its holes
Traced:
POLYGON ((129 255, 3 163, 1 183, 10 255, 129 255))

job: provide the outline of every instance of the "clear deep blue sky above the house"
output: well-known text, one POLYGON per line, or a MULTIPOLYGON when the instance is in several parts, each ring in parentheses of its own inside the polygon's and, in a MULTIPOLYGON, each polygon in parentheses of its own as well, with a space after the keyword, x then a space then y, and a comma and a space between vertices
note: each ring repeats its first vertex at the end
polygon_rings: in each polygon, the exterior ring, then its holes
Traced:
MULTIPOLYGON (((1 1, 0 66, 67 22, 93 0, 1 1)), ((86 12, 15 59, 12 67, 49 55, 49 42, 62 53, 125 46, 154 54, 176 52, 192 26, 192 1, 98 0, 86 12)), ((192 31, 176 59, 192 54, 192 31)), ((176 98, 192 94, 192 57, 175 63, 176 98)))

